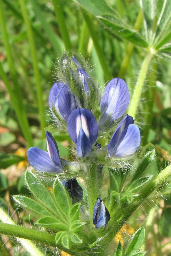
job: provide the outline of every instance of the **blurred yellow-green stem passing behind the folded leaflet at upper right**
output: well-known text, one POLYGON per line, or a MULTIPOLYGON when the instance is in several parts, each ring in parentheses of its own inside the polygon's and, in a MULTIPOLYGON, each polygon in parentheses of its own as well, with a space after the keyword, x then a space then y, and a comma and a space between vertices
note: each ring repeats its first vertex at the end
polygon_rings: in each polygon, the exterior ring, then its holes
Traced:
MULTIPOLYGON (((134 29, 139 30, 141 28, 142 22, 143 22, 143 12, 140 9, 140 11, 138 13, 138 16, 137 16, 137 19, 135 21, 134 29)), ((130 58, 131 58, 132 52, 134 50, 134 47, 135 47, 135 44, 133 44, 133 43, 128 43, 127 44, 127 48, 126 48, 126 51, 125 51, 125 56, 124 56, 124 59, 122 60, 119 75, 118 75, 121 78, 124 77, 124 74, 125 74, 125 72, 128 68, 128 64, 130 62, 130 58)))

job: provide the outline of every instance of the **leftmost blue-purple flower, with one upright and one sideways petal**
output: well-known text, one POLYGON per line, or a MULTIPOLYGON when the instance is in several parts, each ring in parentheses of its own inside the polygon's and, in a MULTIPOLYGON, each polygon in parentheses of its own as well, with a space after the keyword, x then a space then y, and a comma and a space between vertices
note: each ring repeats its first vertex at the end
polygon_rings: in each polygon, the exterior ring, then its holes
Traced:
POLYGON ((28 161, 37 171, 49 173, 63 172, 57 143, 48 131, 46 132, 46 138, 48 152, 38 147, 31 147, 27 151, 28 161))

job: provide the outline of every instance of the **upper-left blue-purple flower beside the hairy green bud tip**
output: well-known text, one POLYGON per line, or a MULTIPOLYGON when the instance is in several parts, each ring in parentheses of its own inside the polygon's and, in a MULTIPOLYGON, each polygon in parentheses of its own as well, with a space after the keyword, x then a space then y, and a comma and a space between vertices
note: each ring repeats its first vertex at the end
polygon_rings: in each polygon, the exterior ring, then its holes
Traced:
POLYGON ((65 122, 71 112, 77 108, 75 97, 66 84, 53 84, 49 92, 49 107, 52 112, 56 111, 65 122))

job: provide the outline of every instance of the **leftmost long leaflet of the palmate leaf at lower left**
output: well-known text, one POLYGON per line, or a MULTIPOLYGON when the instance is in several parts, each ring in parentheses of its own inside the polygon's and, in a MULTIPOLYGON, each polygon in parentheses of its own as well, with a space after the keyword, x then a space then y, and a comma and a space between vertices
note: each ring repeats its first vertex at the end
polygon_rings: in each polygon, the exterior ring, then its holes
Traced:
POLYGON ((44 206, 40 205, 30 197, 19 195, 19 196, 14 196, 13 198, 24 209, 32 211, 37 216, 52 216, 52 213, 50 213, 44 206))

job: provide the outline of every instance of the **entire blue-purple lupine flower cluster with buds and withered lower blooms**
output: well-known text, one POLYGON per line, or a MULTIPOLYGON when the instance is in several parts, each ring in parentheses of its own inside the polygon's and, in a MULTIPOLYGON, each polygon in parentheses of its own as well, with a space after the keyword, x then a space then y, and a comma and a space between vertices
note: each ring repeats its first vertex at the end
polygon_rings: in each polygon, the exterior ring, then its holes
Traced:
MULTIPOLYGON (((68 130, 75 144, 75 159, 89 163, 97 159, 98 151, 106 150, 108 158, 132 158, 140 146, 140 130, 128 114, 123 117, 130 100, 129 90, 121 78, 113 78, 106 86, 100 101, 101 116, 96 120, 94 113, 99 104, 98 87, 85 71, 83 62, 77 57, 64 55, 59 67, 63 82, 55 82, 49 93, 49 108, 55 122, 68 130), (118 124, 119 123, 119 124, 118 124), (101 134, 108 133, 118 124, 108 146, 101 148, 97 142, 101 134)), ((37 170, 49 173, 64 173, 64 160, 59 157, 57 143, 52 134, 46 132, 47 151, 31 147, 28 161, 37 170)), ((68 161, 68 165, 70 163, 68 161)), ((103 165, 101 165, 103 167, 103 165)), ((81 165, 83 172, 86 170, 81 165)), ((102 168, 100 168, 102 169, 102 168)), ((82 200, 82 189, 76 178, 63 181, 73 201, 82 200)), ((95 195, 95 197, 97 197, 95 195)), ((93 211, 96 228, 108 224, 110 215, 103 201, 98 198, 93 211)))

